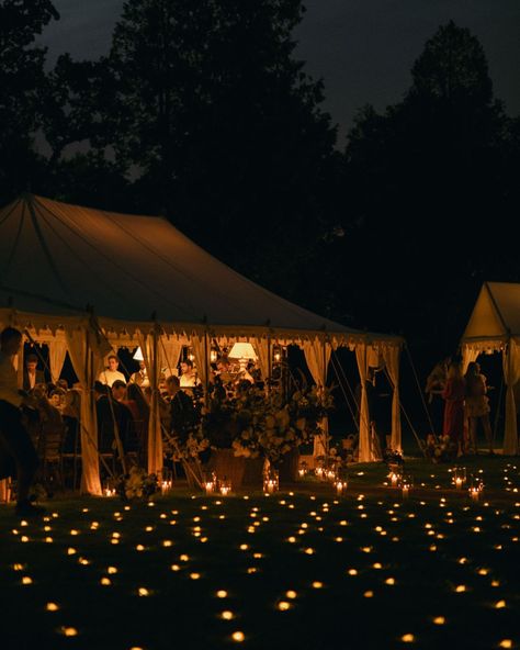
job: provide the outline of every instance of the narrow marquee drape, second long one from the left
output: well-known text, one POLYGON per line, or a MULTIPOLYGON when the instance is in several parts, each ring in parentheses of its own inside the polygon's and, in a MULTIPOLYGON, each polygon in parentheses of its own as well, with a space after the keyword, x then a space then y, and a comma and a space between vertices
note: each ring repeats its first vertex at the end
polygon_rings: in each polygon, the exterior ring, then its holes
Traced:
POLYGON ((146 371, 151 386, 150 418, 148 421, 148 473, 162 471, 162 434, 159 413, 159 333, 139 337, 146 371))

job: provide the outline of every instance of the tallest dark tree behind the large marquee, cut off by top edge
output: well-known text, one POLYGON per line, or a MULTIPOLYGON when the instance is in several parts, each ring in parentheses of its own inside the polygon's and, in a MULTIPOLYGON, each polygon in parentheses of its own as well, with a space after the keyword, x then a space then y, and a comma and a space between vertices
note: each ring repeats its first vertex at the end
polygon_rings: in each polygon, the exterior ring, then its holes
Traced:
POLYGON ((293 57, 302 15, 299 0, 129 0, 98 63, 110 81, 81 99, 135 210, 293 298, 336 220, 339 159, 323 85, 293 57))

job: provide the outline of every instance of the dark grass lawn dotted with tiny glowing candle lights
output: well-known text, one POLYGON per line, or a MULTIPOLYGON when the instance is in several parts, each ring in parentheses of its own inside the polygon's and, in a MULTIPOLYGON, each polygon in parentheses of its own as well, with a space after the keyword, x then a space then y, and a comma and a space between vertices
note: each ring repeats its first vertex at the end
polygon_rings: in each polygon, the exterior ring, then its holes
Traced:
POLYGON ((0 649, 518 648, 520 461, 464 462, 483 470, 478 503, 449 466, 408 459, 408 498, 371 464, 342 497, 309 479, 56 497, 27 525, 1 506, 0 649))

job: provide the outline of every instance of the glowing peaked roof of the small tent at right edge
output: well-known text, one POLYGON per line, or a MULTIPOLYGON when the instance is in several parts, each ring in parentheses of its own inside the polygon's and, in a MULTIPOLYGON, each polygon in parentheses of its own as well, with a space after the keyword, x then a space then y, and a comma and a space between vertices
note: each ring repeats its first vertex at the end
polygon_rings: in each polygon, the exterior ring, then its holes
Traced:
POLYGON ((520 283, 484 282, 464 330, 463 344, 520 339, 520 283))

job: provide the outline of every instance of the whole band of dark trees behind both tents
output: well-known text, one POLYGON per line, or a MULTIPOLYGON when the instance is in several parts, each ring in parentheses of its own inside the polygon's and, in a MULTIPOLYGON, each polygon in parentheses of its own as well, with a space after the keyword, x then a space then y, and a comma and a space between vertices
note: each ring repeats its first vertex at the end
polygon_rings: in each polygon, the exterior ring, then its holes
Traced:
POLYGON ((106 57, 48 69, 35 38, 59 20, 52 1, 0 0, 0 202, 31 189, 165 214, 269 289, 402 333, 431 363, 483 280, 520 280, 520 119, 450 22, 344 147, 294 56, 303 16, 299 0, 128 0, 106 57))

